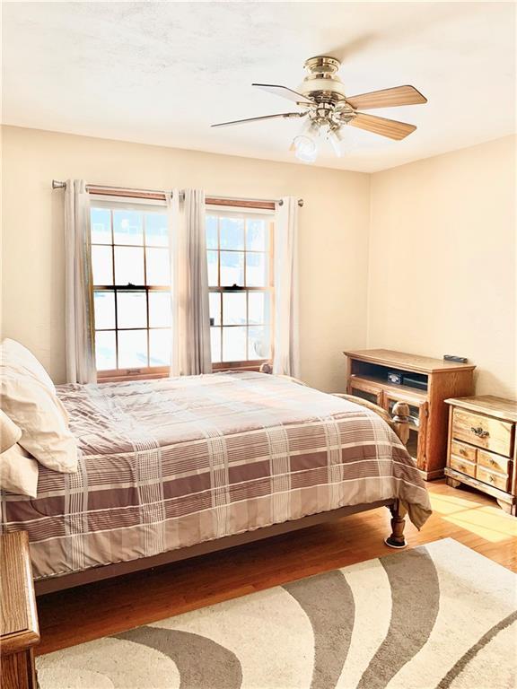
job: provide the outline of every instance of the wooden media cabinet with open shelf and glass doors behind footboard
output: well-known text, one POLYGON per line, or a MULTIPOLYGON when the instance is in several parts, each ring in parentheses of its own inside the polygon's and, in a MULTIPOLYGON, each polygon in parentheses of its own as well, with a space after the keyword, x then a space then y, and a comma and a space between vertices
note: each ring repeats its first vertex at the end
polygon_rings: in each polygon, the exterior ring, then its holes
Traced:
POLYGON ((471 364, 443 362, 388 349, 345 352, 349 395, 364 397, 391 413, 397 402, 406 402, 410 414, 407 449, 426 481, 443 476, 447 458, 448 397, 471 395, 471 364), (400 382, 391 382, 388 373, 400 382))

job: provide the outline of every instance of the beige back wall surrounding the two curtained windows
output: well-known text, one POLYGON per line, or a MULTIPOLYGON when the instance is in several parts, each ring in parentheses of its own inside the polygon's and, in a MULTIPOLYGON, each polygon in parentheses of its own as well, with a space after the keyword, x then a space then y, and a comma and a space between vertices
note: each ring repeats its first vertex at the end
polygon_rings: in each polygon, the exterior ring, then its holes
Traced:
POLYGON ((343 390, 366 334, 369 175, 4 127, 3 335, 65 378, 63 192, 52 178, 223 196, 302 196, 302 377, 343 390))

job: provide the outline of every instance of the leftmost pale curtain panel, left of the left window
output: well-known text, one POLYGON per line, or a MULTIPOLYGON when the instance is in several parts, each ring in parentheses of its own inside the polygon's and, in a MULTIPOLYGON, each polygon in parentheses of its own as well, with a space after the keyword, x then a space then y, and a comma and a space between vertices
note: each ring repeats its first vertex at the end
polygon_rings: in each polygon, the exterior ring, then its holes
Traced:
POLYGON ((94 383, 90 196, 83 179, 66 182, 65 251, 66 380, 94 383))

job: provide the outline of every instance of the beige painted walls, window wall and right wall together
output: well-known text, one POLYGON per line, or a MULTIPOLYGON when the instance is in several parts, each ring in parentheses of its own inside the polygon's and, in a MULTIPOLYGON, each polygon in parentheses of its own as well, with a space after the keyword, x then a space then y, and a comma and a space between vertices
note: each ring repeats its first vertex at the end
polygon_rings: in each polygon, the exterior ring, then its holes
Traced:
POLYGON ((302 378, 343 389, 342 350, 382 346, 478 365, 517 397, 515 137, 372 176, 4 127, 3 335, 64 380, 68 177, 211 194, 302 196, 302 378), (368 314, 368 318, 366 318, 368 314))

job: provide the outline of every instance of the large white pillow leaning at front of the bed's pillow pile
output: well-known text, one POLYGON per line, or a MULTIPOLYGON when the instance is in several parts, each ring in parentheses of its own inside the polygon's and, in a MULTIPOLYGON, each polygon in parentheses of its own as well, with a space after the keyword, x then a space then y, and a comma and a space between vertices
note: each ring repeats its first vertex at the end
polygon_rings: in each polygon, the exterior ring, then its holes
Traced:
POLYGON ((57 397, 20 370, 4 366, 1 373, 2 406, 22 429, 22 448, 45 467, 66 474, 77 471, 77 443, 57 406, 57 397))

